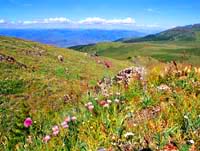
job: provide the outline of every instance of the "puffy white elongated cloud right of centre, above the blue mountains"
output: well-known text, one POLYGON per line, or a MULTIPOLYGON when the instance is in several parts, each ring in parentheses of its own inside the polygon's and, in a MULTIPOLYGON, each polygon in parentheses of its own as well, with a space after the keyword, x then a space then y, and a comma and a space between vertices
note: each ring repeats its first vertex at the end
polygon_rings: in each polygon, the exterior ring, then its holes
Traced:
POLYGON ((79 24, 134 24, 135 19, 133 18, 125 18, 125 19, 104 19, 99 17, 89 17, 84 20, 78 21, 79 24))

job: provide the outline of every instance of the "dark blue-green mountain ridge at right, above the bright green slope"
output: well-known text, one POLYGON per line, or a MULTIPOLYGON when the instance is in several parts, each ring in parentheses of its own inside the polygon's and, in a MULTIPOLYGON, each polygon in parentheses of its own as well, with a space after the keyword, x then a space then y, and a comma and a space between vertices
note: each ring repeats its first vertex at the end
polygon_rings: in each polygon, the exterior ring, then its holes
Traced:
POLYGON ((122 38, 116 41, 132 43, 145 41, 200 41, 200 24, 172 28, 142 38, 122 38))

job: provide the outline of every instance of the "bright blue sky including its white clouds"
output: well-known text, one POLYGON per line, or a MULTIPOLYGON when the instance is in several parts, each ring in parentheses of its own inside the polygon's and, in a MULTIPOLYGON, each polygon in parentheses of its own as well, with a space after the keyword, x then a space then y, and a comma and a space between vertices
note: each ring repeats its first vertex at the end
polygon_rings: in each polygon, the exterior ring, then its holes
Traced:
POLYGON ((0 28, 161 30, 199 14, 199 0, 0 0, 0 28))

